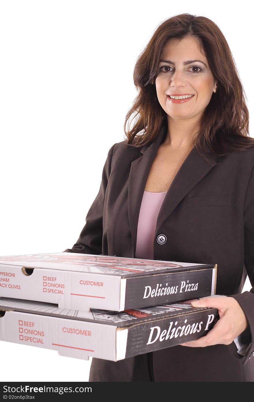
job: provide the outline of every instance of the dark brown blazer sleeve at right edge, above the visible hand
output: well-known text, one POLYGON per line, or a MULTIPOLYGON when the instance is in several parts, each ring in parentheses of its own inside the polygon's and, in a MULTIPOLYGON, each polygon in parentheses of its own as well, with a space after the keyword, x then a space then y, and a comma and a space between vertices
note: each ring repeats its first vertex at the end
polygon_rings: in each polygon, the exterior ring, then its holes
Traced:
POLYGON ((250 330, 250 345, 247 348, 246 355, 241 357, 242 364, 245 365, 249 359, 254 359, 254 167, 250 174, 246 198, 244 203, 244 265, 252 288, 250 291, 231 295, 242 307, 250 330))

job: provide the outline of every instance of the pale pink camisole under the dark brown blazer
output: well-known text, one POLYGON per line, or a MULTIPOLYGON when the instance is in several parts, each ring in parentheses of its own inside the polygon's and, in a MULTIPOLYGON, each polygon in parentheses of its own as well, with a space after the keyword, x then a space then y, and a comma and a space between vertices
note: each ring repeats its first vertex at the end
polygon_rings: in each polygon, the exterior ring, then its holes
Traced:
POLYGON ((139 218, 135 258, 153 260, 153 242, 156 222, 167 191, 150 193, 144 191, 139 218))

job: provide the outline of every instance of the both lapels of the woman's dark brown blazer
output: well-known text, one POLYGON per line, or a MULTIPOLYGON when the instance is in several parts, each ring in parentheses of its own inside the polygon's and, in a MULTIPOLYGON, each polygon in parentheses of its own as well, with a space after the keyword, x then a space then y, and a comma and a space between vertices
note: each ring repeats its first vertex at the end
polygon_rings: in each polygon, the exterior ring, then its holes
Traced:
MULTIPOLYGON (((128 214, 130 228, 132 232, 132 241, 134 248, 134 256, 136 252, 136 240, 138 229, 138 218, 141 207, 142 197, 146 186, 146 181, 152 162, 156 156, 159 146, 167 135, 167 120, 163 123, 157 137, 151 144, 146 144, 140 149, 141 156, 134 160, 131 164, 129 185, 128 185, 128 214)), ((205 145, 206 150, 209 148, 205 145)), ((165 219, 171 214, 181 200, 189 193, 189 191, 213 168, 217 162, 216 155, 211 153, 213 163, 207 163, 194 147, 180 169, 178 170, 165 199, 161 205, 156 222, 156 232, 163 224, 165 219)), ((155 232, 155 233, 156 233, 155 232)))

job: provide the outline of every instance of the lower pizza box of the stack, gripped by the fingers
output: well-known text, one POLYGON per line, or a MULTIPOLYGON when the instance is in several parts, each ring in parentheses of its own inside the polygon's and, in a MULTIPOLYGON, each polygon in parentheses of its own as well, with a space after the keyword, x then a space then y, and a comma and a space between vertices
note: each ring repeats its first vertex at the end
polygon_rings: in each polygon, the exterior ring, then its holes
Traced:
POLYGON ((83 312, 0 297, 0 340, 86 360, 91 356, 118 361, 179 345, 206 335, 218 319, 217 309, 195 308, 190 301, 83 312))

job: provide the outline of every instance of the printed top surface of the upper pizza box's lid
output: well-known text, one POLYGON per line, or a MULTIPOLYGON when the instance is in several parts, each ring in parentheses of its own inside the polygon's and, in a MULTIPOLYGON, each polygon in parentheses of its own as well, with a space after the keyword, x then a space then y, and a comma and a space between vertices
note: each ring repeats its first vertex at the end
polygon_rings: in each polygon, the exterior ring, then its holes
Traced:
MULTIPOLYGON (((186 263, 165 260, 148 260, 97 254, 59 252, 48 254, 24 254, 0 256, 1 265, 23 267, 28 275, 35 268, 76 271, 132 278, 215 268, 213 264, 186 263)), ((217 268, 217 267, 216 267, 217 268)))

